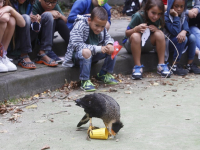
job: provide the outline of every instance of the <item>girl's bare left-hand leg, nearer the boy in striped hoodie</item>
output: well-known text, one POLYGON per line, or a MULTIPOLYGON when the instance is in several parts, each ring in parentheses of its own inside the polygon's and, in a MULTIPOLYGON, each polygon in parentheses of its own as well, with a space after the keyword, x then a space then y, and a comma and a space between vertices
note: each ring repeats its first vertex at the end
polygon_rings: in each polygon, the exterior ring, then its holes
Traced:
POLYGON ((133 33, 129 41, 131 43, 131 52, 133 56, 134 64, 137 66, 141 66, 140 58, 141 58, 141 34, 133 33))

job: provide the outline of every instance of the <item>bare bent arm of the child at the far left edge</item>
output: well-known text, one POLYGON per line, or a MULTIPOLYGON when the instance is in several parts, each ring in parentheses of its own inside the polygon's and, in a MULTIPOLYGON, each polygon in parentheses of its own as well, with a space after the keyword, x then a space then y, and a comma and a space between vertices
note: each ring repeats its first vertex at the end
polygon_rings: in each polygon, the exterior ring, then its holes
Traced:
POLYGON ((11 6, 4 6, 0 9, 0 17, 3 16, 5 13, 10 13, 16 20, 16 24, 19 27, 24 27, 26 25, 24 18, 20 15, 14 8, 11 6))

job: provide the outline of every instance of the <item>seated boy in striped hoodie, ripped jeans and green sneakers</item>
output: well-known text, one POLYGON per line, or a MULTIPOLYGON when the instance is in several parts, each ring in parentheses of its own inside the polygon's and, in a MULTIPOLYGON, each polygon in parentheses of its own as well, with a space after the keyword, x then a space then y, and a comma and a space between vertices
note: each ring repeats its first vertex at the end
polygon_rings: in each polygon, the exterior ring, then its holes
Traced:
POLYGON ((97 79, 106 84, 118 83, 110 74, 113 72, 116 57, 111 59, 114 40, 105 29, 107 20, 106 10, 95 7, 91 17, 78 16, 70 32, 70 41, 62 65, 64 67, 80 66, 79 78, 84 91, 96 90, 90 81, 91 64, 104 58, 104 64, 97 74, 97 79))

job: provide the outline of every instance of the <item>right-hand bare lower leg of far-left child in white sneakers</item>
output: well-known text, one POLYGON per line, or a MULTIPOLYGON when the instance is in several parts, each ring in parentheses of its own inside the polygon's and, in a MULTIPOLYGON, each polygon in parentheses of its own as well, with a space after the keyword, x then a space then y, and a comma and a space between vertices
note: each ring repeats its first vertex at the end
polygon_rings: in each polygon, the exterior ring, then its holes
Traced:
POLYGON ((1 41, 4 46, 4 50, 6 50, 6 51, 8 49, 8 45, 10 44, 11 38, 15 31, 15 25, 16 25, 15 18, 11 16, 9 21, 7 22, 7 27, 6 27, 6 30, 4 32, 4 35, 3 35, 3 38, 1 41))

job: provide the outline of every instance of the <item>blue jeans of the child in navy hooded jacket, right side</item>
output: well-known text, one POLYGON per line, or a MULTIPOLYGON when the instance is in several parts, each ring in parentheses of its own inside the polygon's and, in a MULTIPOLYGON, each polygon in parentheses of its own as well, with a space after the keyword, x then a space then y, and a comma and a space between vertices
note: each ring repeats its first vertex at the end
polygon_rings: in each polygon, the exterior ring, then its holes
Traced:
MULTIPOLYGON (((196 39, 193 34, 190 34, 188 37, 186 36, 185 41, 183 43, 178 43, 178 40, 176 37, 172 37, 171 40, 174 43, 174 45, 176 45, 176 48, 178 49, 178 52, 179 52, 177 62, 180 61, 182 52, 184 51, 186 46, 188 46, 188 48, 187 48, 188 60, 194 59, 195 50, 196 50, 196 39)), ((169 44, 169 49, 170 49, 170 51, 174 51, 173 60, 175 60, 177 57, 177 51, 171 42, 169 44)))

